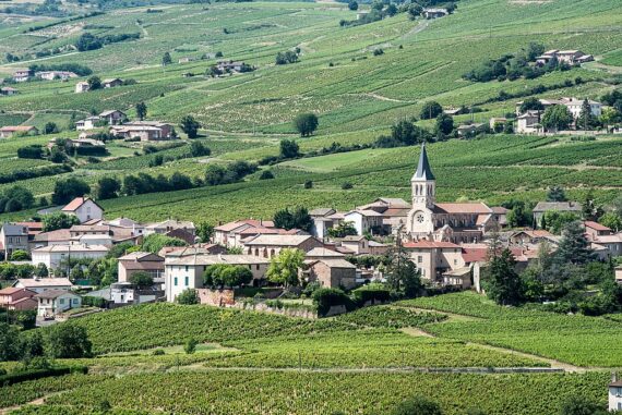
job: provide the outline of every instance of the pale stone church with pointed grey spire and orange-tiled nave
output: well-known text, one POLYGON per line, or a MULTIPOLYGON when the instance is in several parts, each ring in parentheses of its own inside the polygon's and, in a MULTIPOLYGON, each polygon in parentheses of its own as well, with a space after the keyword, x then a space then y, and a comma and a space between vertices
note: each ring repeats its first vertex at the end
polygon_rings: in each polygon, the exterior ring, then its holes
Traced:
POLYGON ((494 210, 482 203, 436 203, 436 180, 426 144, 410 184, 412 205, 406 218, 406 236, 411 241, 477 243, 498 225, 494 210))

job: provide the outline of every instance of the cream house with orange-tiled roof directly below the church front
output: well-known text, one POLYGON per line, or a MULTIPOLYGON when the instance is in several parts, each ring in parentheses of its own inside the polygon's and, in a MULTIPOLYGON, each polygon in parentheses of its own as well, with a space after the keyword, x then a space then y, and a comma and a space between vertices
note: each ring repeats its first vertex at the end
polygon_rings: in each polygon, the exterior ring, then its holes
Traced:
POLYGON ((452 242, 422 240, 406 242, 403 246, 421 272, 421 278, 430 281, 440 281, 443 273, 464 270, 466 267, 460 246, 452 242))

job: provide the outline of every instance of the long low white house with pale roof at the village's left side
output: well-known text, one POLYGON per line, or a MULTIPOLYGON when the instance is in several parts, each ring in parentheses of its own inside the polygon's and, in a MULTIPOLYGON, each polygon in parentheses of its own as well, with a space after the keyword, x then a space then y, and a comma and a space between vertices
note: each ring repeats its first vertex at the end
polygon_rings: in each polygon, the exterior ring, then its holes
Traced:
MULTIPOLYGON (((45 264, 48 270, 69 268, 74 259, 99 259, 108 254, 104 245, 49 245, 33 249, 33 265, 45 264)), ((69 269, 68 269, 69 270, 69 269)))

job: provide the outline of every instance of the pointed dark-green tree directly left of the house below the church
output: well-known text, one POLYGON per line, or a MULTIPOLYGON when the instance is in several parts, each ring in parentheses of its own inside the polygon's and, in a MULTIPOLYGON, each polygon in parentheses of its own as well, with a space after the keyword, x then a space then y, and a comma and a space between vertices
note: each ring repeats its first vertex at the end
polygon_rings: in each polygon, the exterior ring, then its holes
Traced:
POLYGON ((386 257, 386 282, 392 290, 408 297, 416 296, 421 289, 421 278, 417 266, 402 245, 400 237, 388 249, 386 257))

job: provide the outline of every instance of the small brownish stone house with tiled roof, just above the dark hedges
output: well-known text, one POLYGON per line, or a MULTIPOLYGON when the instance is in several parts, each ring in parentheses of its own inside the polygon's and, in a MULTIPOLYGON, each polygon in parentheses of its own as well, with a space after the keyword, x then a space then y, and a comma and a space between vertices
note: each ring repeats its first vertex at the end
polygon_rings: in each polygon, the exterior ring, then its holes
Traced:
POLYGON ((323 258, 306 261, 303 276, 309 282, 325 288, 352 289, 356 285, 357 267, 343 258, 323 258))

